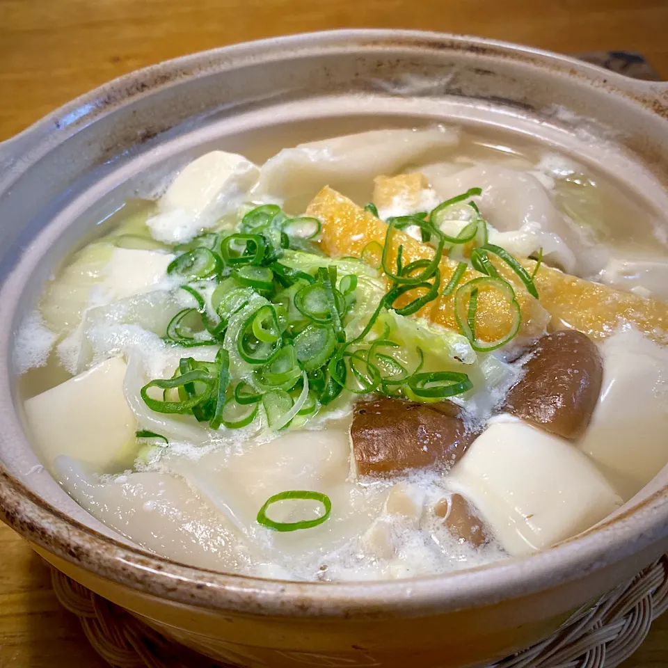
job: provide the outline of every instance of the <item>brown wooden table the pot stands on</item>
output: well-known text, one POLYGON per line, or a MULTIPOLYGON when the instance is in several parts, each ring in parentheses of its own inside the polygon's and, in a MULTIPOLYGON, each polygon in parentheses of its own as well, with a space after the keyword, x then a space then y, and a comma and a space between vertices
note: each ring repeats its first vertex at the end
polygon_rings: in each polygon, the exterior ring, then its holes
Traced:
MULTIPOLYGON (((641 51, 668 79, 668 0, 0 0, 0 140, 138 67, 285 33, 470 33, 565 53, 641 51)), ((103 668, 47 568, 0 527, 0 668, 103 668)), ((668 614, 624 668, 668 666, 668 614)))

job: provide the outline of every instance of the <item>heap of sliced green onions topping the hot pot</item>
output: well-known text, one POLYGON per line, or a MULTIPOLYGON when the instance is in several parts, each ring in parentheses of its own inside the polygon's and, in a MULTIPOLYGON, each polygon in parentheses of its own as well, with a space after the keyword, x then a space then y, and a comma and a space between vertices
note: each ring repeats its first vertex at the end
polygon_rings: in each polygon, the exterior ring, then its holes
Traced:
MULTIPOLYGON (((337 264, 322 257, 314 243, 321 231, 317 218, 294 218, 277 205, 262 205, 246 212, 233 232, 206 232, 177 247, 182 252, 168 272, 180 278, 194 305, 177 312, 164 340, 183 349, 218 351, 212 362, 182 358, 171 378, 142 388, 143 401, 153 411, 191 415, 212 429, 239 429, 262 417, 278 431, 303 424, 345 392, 414 401, 468 392, 466 374, 422 371, 423 351, 408 351, 392 340, 387 325, 379 334, 379 317, 384 310, 409 317, 439 296, 454 296, 457 324, 473 349, 490 351, 512 340, 520 308, 490 255, 511 267, 533 296, 535 271, 530 275, 507 251, 488 243, 486 222, 471 200, 481 192, 473 188, 431 212, 389 218, 384 244, 370 242, 361 259, 382 268, 390 285, 364 308, 360 290, 369 268, 358 275, 351 259, 337 264), (443 221, 452 220, 465 221, 454 237, 440 230, 443 221), (398 239, 409 225, 434 246, 431 258, 406 261, 398 239), (441 285, 444 254, 460 261, 441 285), (462 283, 470 265, 486 276, 462 283), (486 342, 477 336, 476 316, 490 290, 507 303, 511 326, 486 342)), ((378 215, 374 205, 365 208, 378 215)))

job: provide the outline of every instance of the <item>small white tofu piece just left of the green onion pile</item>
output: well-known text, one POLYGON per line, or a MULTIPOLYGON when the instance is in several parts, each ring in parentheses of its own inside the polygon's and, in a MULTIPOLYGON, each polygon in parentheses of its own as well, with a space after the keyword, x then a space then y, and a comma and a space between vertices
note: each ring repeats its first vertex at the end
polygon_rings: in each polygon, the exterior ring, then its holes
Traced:
POLYGON ((166 280, 173 259, 173 255, 155 250, 114 248, 100 286, 106 303, 157 289, 166 280))

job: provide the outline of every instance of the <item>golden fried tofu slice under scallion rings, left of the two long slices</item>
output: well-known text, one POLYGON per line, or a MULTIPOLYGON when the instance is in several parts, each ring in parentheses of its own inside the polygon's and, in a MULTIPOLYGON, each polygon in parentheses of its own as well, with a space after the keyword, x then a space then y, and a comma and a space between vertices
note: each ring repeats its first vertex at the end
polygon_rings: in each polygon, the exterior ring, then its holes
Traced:
MULTIPOLYGON (((373 214, 358 207, 354 202, 331 188, 322 189, 308 206, 307 216, 319 218, 322 222, 321 248, 333 257, 340 255, 360 255, 370 241, 385 243, 386 223, 373 214)), ((434 248, 416 241, 403 232, 392 235, 392 257, 397 257, 399 246, 403 246, 404 263, 434 257, 434 248)), ((443 257, 440 262, 441 285, 447 285, 457 263, 443 257)), ((482 276, 475 269, 467 269, 461 283, 482 276)), ((521 286, 521 283, 520 283, 521 286)), ((517 301, 522 312, 522 326, 519 336, 522 342, 532 342, 545 333, 550 319, 523 287, 516 290, 517 301)), ((410 299, 408 300, 410 301, 410 299)), ((432 322, 457 330, 454 317, 454 297, 439 297, 417 312, 432 322)), ((496 341, 507 335, 511 328, 511 314, 504 297, 496 290, 481 292, 478 296, 476 312, 476 335, 483 341, 496 341)))

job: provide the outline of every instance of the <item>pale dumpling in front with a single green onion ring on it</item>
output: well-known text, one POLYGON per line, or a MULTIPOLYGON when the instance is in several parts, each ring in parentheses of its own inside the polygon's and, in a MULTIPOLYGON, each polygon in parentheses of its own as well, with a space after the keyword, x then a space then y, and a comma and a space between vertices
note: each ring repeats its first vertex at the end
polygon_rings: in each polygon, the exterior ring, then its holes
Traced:
MULTIPOLYGON (((357 536, 379 514, 384 492, 362 491, 347 482, 349 442, 342 430, 295 431, 243 454, 216 452, 191 461, 169 458, 164 466, 185 477, 247 539, 266 550, 269 561, 325 554, 357 536), (257 511, 267 499, 286 490, 325 493, 331 516, 307 530, 274 532, 257 523, 257 511), (273 553, 273 557, 271 557, 273 553)), ((273 504, 267 515, 276 521, 312 519, 321 513, 316 502, 273 504)))

